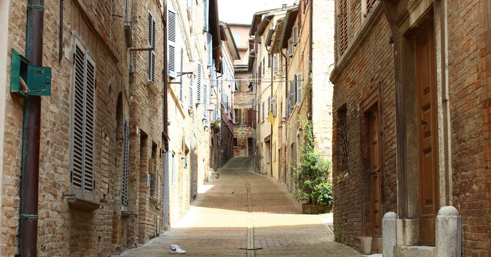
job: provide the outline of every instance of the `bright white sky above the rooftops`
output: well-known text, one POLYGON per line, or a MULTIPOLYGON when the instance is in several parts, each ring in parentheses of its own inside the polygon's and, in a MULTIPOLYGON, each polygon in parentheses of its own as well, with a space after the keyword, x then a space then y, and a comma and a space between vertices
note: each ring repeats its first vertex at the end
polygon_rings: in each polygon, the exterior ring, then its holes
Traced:
MULTIPOLYGON (((296 0, 285 0, 290 6, 296 0)), ((255 12, 280 8, 283 0, 218 0, 218 17, 226 23, 250 24, 255 12)))

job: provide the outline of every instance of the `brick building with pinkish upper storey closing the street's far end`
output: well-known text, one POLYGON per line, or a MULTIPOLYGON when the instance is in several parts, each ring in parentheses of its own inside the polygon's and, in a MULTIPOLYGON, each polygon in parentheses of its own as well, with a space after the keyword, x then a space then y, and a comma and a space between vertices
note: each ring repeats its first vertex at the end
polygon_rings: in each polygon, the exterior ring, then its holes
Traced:
POLYGON ((254 134, 252 131, 254 91, 252 73, 249 69, 248 33, 250 25, 229 24, 240 59, 234 60, 236 85, 234 91, 234 157, 254 154, 254 134))

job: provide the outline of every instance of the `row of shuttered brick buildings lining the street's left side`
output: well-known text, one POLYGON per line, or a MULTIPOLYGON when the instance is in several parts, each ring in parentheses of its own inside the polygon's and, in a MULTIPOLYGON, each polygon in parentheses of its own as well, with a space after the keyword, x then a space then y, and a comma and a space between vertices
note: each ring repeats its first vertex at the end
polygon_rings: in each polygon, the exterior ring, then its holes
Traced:
POLYGON ((19 223, 36 218, 30 246, 39 256, 117 255, 175 224, 206 179, 217 1, 39 6, 0 3, 0 255, 25 251, 19 223), (38 207, 21 213, 30 175, 22 171, 23 110, 35 97, 10 93, 11 61, 13 50, 29 59, 30 10, 44 10, 41 56, 52 84, 41 97, 38 207))

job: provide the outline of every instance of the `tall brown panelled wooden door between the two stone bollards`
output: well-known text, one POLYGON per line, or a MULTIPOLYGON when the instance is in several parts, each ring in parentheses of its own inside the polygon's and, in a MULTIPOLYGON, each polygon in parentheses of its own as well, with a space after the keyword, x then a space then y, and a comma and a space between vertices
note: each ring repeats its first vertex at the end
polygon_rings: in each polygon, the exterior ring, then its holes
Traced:
POLYGON ((419 239, 435 245, 435 217, 439 207, 436 145, 436 66, 433 23, 416 36, 418 106, 419 239))

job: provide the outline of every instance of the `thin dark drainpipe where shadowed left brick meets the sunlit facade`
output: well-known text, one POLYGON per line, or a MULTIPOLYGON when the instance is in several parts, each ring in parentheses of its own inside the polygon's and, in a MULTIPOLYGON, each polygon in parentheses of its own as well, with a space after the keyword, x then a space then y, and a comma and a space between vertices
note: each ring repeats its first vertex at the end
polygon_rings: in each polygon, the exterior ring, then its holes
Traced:
POLYGON ((164 0, 164 69, 162 72, 162 77, 164 80, 164 94, 162 96, 163 101, 163 112, 164 112, 164 152, 169 151, 169 115, 168 115, 168 104, 167 104, 167 93, 168 93, 168 77, 167 77, 167 0, 164 0))

